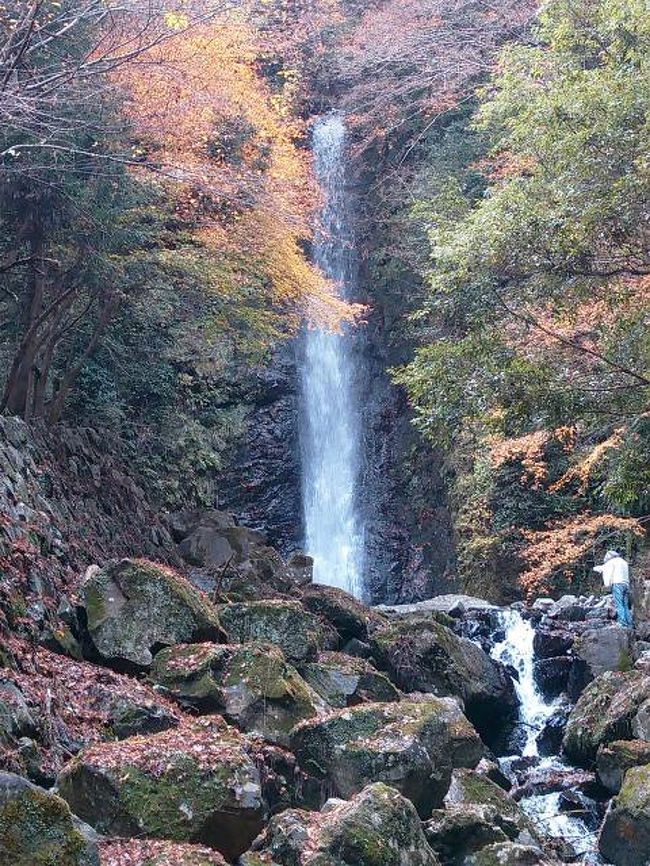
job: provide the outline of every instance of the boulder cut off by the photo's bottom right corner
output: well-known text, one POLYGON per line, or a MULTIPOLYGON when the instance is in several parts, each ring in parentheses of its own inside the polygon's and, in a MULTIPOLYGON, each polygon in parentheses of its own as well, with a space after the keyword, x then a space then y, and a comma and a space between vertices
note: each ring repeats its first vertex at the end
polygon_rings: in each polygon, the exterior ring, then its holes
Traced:
POLYGON ((650 862, 650 764, 628 770, 605 816, 598 847, 614 866, 650 862))

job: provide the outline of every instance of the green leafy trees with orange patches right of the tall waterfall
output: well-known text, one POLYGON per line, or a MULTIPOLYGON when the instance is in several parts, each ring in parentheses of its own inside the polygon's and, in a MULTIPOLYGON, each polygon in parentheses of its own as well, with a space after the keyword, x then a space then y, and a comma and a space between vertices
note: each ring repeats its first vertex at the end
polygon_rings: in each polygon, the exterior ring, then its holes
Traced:
POLYGON ((521 530, 648 510, 649 56, 641 0, 554 0, 421 168, 429 289, 393 375, 453 455, 468 584, 510 592, 521 530), (577 440, 545 454, 543 483, 489 458, 555 428, 577 440))

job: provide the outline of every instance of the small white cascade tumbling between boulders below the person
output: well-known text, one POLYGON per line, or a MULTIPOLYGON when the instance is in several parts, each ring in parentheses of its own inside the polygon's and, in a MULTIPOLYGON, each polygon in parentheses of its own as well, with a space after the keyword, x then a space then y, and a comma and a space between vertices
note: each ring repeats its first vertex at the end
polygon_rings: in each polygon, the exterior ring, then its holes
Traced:
MULTIPOLYGON (((523 728, 521 753, 501 758, 501 769, 513 781, 513 769, 522 759, 524 763, 529 759, 531 772, 569 772, 573 768, 559 755, 540 757, 539 753, 539 736, 560 708, 561 699, 546 700, 535 683, 535 629, 517 610, 502 611, 500 620, 505 636, 494 645, 491 655, 517 672, 518 677, 514 676, 513 682, 520 700, 519 723, 523 728)), ((580 815, 563 810, 561 798, 561 792, 536 794, 523 797, 519 805, 541 834, 568 842, 573 847, 578 859, 571 862, 600 866, 603 861, 597 854, 597 833, 580 815)))

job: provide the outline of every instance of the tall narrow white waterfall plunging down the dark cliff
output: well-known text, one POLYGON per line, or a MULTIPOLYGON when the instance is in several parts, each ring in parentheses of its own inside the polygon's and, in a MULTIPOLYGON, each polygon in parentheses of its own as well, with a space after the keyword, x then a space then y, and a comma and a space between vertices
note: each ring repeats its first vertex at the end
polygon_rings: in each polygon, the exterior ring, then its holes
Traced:
MULTIPOLYGON (((325 204, 314 260, 350 297, 352 238, 345 189, 345 124, 338 113, 317 120, 315 170, 325 204)), ((310 329, 302 363, 301 424, 305 548, 314 581, 353 595, 363 591, 363 527, 357 512, 361 423, 355 391, 353 337, 310 329)))

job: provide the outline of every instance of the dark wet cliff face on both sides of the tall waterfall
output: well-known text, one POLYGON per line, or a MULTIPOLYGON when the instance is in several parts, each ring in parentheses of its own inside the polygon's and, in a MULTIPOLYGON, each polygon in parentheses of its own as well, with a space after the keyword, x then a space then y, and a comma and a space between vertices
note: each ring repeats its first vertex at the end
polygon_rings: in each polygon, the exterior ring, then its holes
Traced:
MULTIPOLYGON (((358 502, 368 598, 394 603, 453 591, 454 549, 440 457, 420 440, 388 378, 381 319, 375 308, 353 347, 363 414, 358 502)), ((303 544, 300 357, 296 338, 255 375, 245 398, 247 431, 219 485, 219 507, 263 531, 283 554, 303 544)))

